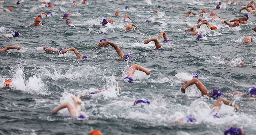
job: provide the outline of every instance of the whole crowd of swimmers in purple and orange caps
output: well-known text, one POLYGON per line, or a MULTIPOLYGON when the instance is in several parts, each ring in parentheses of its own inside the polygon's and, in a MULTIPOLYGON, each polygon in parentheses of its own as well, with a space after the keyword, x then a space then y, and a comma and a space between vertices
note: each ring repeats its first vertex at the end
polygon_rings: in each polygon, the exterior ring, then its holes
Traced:
MULTIPOLYGON (((31 0, 32 1, 32 0, 31 0)), ((38 0, 36 0, 38 1, 38 0)), ((56 1, 57 2, 57 1, 56 1)), ((1 1, 0 3, 5 3, 4 1, 1 1)), ((61 2, 59 2, 61 3, 61 2)), ((86 0, 83 0, 81 2, 81 4, 86 4, 87 1, 86 0)), ((231 0, 230 2, 227 1, 227 3, 230 3, 230 4, 239 4, 240 3, 236 3, 234 2, 234 0, 231 0)), ((17 2, 15 2, 15 4, 17 5, 20 5, 21 4, 21 0, 18 0, 17 2)), ((219 2, 219 4, 216 6, 216 9, 221 9, 221 4, 222 2, 219 2)), ((246 7, 243 7, 239 10, 239 12, 241 12, 242 10, 247 10, 247 12, 249 13, 255 13, 255 6, 256 2, 254 2, 254 0, 252 0, 251 2, 248 3, 248 5, 246 7), (254 5, 254 6, 253 6, 254 5), (250 10, 251 9, 251 10, 250 10)), ((43 2, 42 3, 42 8, 53 8, 52 6, 52 3, 51 2, 48 2, 48 5, 46 5, 46 2, 43 2)), ((71 5, 71 7, 78 7, 76 1, 73 1, 73 5, 71 5)), ((129 10, 129 7, 126 6, 125 9, 128 9, 129 10)), ((10 8, 3 8, 4 11, 12 11, 12 7, 10 8)), ((158 12, 157 10, 154 10, 154 12, 158 12)), ((193 14, 193 15, 197 15, 197 13, 195 12, 192 12, 192 11, 189 11, 187 12, 186 15, 184 15, 185 17, 189 17, 190 14, 193 14)), ((47 15, 52 15, 51 12, 47 12, 47 13, 44 13, 44 12, 40 12, 40 15, 38 15, 34 22, 30 23, 30 25, 32 26, 42 26, 43 27, 43 22, 41 20, 41 18, 43 17, 43 15, 45 15, 45 17, 47 17, 47 15)), ((118 16, 119 15, 119 12, 116 12, 115 13, 115 16, 118 16)), ((203 16, 203 15, 208 15, 206 10, 203 9, 202 12, 200 14, 198 14, 199 16, 203 16)), ((66 25, 68 27, 74 27, 73 24, 71 24, 71 19, 68 18, 68 16, 75 16, 74 14, 70 14, 70 13, 65 13, 62 17, 63 20, 66 20, 66 25)), ((246 14, 244 15, 243 17, 240 17, 239 19, 233 19, 233 20, 230 20, 230 21, 227 21, 227 20, 224 20, 222 17, 220 17, 219 15, 217 14, 214 14, 214 12, 211 12, 211 14, 209 15, 211 17, 211 20, 215 20, 217 17, 220 18, 222 21, 221 23, 222 24, 227 24, 229 27, 238 27, 240 24, 246 24, 246 22, 248 21, 249 19, 249 15, 246 14), (232 22, 234 22, 232 24, 232 22)), ((132 20, 131 17, 127 14, 125 14, 124 16, 124 19, 123 19, 123 22, 128 22, 129 20, 132 20)), ((113 24, 114 20, 112 19, 103 19, 101 24, 102 26, 106 26, 106 24, 110 23, 110 24, 113 24)), ((151 22, 150 20, 146 20, 145 22, 151 22)), ((204 20, 202 18, 199 18, 198 21, 197 21, 197 25, 195 27, 191 27, 187 30, 185 30, 185 32, 187 31, 192 31, 190 34, 191 35, 197 35, 196 39, 198 40, 201 40, 203 39, 202 37, 202 33, 203 32, 199 32, 199 31, 196 31, 197 29, 199 29, 202 25, 206 25, 210 30, 218 30, 218 28, 216 26, 211 26, 208 22, 208 20, 204 20)), ((189 24, 187 24, 189 25, 189 24)), ((126 30, 131 30, 132 27, 135 27, 135 29, 138 29, 137 25, 133 24, 133 23, 130 23, 125 29, 126 30)), ((252 28, 252 30, 256 31, 256 27, 252 28)), ((17 31, 13 31, 12 32, 12 35, 13 37, 18 37, 20 34, 19 32, 17 31)), ((163 30, 160 32, 159 36, 158 37, 152 37, 150 39, 146 39, 144 40, 144 44, 148 44, 149 42, 151 41, 154 41, 154 44, 155 44, 155 49, 156 50, 160 50, 160 51, 164 51, 164 47, 163 47, 163 44, 159 42, 159 39, 163 38, 163 42, 170 42, 170 39, 168 38, 168 35, 166 34, 166 32, 164 32, 163 30)), ((248 36, 246 39, 244 39, 244 42, 243 43, 249 43, 249 42, 253 42, 253 39, 251 36, 248 36)), ((112 46, 118 56, 119 56, 119 59, 123 59, 123 60, 131 60, 132 59, 132 56, 128 55, 128 54, 124 54, 121 49, 113 42, 111 41, 108 41, 106 39, 100 39, 100 42, 97 44, 97 47, 109 47, 112 46)), ((19 46, 7 46, 7 47, 4 47, 3 49, 0 49, 0 52, 4 52, 4 51, 7 51, 9 49, 17 49, 17 50, 20 50, 22 49, 22 47, 19 47, 19 46)), ((86 55, 82 55, 78 52, 77 49, 75 49, 74 47, 71 47, 71 48, 68 48, 68 49, 55 49, 53 47, 48 47, 48 46, 43 46, 43 49, 45 50, 45 52, 50 52, 50 53, 58 53, 58 54, 65 54, 67 51, 73 51, 74 54, 76 54, 76 59, 89 59, 88 56, 86 55)), ((139 70, 139 71, 142 71, 144 73, 146 73, 147 75, 149 75, 151 73, 150 70, 148 69, 145 69, 143 68, 142 66, 139 66, 137 64, 133 64, 127 71, 126 71, 126 74, 125 76, 123 77, 123 80, 127 83, 134 83, 134 80, 132 78, 135 70, 139 70)), ((197 88, 201 91, 201 96, 202 97, 207 97, 209 99, 213 98, 213 100, 216 100, 216 102, 214 103, 213 107, 212 107, 212 112, 211 112, 211 115, 214 117, 214 118, 221 118, 221 116, 218 114, 218 111, 220 110, 220 107, 222 104, 225 104, 225 105, 229 105, 229 106, 233 106, 234 107, 234 110, 235 111, 238 111, 239 110, 239 106, 232 103, 231 101, 223 98, 223 93, 219 90, 219 89, 211 89, 210 91, 201 83, 201 81, 199 80, 199 76, 197 74, 193 74, 193 79, 191 80, 182 80, 183 83, 185 83, 185 85, 181 88, 181 92, 182 93, 185 93, 186 92, 186 88, 195 84, 197 86, 197 88)), ((4 82, 4 88, 6 89, 12 89, 13 88, 13 84, 12 84, 12 81, 10 80, 5 80, 4 82)), ((97 93, 100 93, 102 91, 106 91, 107 89, 102 89, 102 90, 99 90, 99 91, 94 91, 94 92, 90 92, 90 93, 86 93, 86 95, 90 98, 92 97, 93 95, 97 94, 97 93)), ((116 89, 116 90, 120 90, 119 89, 116 89)), ((253 86, 253 87, 250 87, 248 90, 247 90, 247 93, 242 93, 240 91, 235 91, 233 93, 226 93, 224 95, 239 95, 239 96, 243 96, 243 95, 249 95, 249 96, 255 96, 256 95, 256 86, 253 86)), ((74 100, 74 103, 75 105, 73 105, 70 101, 67 101, 65 103, 62 103, 61 105, 55 107, 53 110, 52 110, 52 113, 55 114, 57 113, 59 110, 63 109, 63 108, 68 108, 68 111, 69 111, 69 114, 71 117, 73 118, 85 118, 86 116, 82 115, 80 113, 81 111, 81 100, 82 99, 81 97, 78 98, 76 96, 72 96, 73 100, 74 100)), ((255 98, 251 97, 250 98, 251 100, 255 100, 255 98)), ((140 100, 136 100, 134 102, 133 105, 137 105, 137 104, 150 104, 150 101, 147 100, 147 99, 140 99, 140 100)), ((186 116, 185 118, 181 118, 179 121, 177 122, 182 122, 182 121, 187 121, 189 123, 194 123, 196 122, 197 120, 195 119, 194 115, 188 115, 186 116)), ((177 123, 175 122, 175 123, 177 123)), ((244 133, 244 130, 242 130, 241 128, 237 128, 237 127, 231 127, 229 128, 228 130, 225 131, 225 135, 245 135, 244 133)), ((97 131, 97 130, 93 130, 91 131, 88 135, 102 135, 101 132, 97 131)))

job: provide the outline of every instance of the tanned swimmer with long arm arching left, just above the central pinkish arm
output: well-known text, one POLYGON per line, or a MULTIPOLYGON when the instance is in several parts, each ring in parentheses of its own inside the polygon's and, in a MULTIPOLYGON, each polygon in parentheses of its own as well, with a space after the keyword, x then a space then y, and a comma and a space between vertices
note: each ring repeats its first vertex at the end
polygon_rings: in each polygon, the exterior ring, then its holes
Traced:
POLYGON ((108 46, 107 44, 114 47, 114 49, 118 53, 118 56, 120 57, 119 59, 124 59, 124 60, 131 60, 132 59, 132 57, 130 55, 128 55, 128 54, 125 55, 116 44, 114 44, 114 43, 112 43, 112 42, 110 42, 106 39, 102 39, 101 42, 99 42, 98 46, 99 47, 108 46))

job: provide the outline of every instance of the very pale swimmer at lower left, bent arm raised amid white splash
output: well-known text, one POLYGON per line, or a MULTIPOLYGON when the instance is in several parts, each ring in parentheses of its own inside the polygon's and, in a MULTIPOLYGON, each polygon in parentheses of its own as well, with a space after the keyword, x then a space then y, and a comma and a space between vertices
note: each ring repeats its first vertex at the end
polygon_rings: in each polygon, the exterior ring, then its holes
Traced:
POLYGON ((62 103, 61 105, 55 107, 52 110, 52 114, 55 114, 59 110, 67 108, 68 111, 69 111, 70 117, 72 117, 72 118, 86 118, 86 116, 80 114, 81 103, 82 103, 81 100, 79 100, 78 97, 76 97, 76 96, 71 96, 71 97, 74 100, 75 106, 70 101, 67 101, 67 102, 62 103))

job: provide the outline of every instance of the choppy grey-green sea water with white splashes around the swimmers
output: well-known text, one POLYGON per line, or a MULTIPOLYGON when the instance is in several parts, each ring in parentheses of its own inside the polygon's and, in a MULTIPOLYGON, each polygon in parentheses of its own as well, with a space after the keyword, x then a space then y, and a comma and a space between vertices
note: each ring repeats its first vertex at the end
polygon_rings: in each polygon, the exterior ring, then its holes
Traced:
POLYGON ((220 10, 215 9, 218 0, 88 0, 88 5, 77 1, 79 7, 70 7, 72 2, 66 0, 62 5, 52 1, 53 9, 38 8, 42 2, 22 0, 25 7, 14 5, 13 0, 0 4, 4 8, 13 7, 12 12, 0 8, 0 48, 23 47, 0 53, 0 86, 5 79, 12 80, 15 86, 10 91, 0 91, 0 134, 86 135, 97 129, 104 135, 223 135, 230 126, 235 126, 243 128, 247 135, 255 135, 255 101, 249 97, 225 96, 239 105, 240 110, 235 112, 234 108, 223 105, 219 112, 222 117, 214 119, 209 113, 215 101, 196 98, 200 92, 195 86, 181 93, 184 84, 180 82, 192 79, 190 74, 197 73, 206 88, 220 89, 223 93, 246 92, 255 84, 255 43, 241 44, 248 35, 256 40, 256 33, 251 30, 256 19, 253 14, 249 14, 247 24, 236 28, 204 15, 203 19, 218 27, 217 31, 210 31, 202 26, 199 31, 205 32, 204 40, 195 40, 195 35, 183 32, 199 19, 198 15, 184 17, 189 10, 201 13, 205 8, 208 14, 213 11, 226 20, 238 19, 246 14, 239 9, 249 0, 236 0, 241 5, 223 2, 220 10), (125 10, 125 6, 130 10, 125 10), (47 11, 53 15, 42 19, 44 27, 28 27, 40 12, 47 11), (114 17, 116 11, 119 17, 114 17), (76 14, 77 17, 70 17, 76 27, 63 26, 64 13, 76 14), (125 14, 130 15, 130 22, 138 30, 125 30, 130 23, 121 22, 125 14), (101 27, 104 18, 113 19, 114 24, 101 27), (145 20, 156 22, 145 23, 145 20), (177 23, 179 20, 182 22, 177 23), (160 24, 162 27, 158 27, 160 24), (11 32, 5 29, 17 30, 21 35, 8 37, 11 32), (166 51, 152 50, 153 42, 143 44, 161 30, 171 40, 163 43, 166 51), (133 60, 117 60, 113 47, 96 47, 102 38, 117 44, 133 60), (90 60, 76 60, 72 51, 64 55, 45 53, 45 45, 57 49, 75 47, 90 60), (240 62, 245 65, 239 65, 240 62), (150 76, 136 71, 135 83, 125 83, 122 75, 132 64, 150 69, 150 76), (121 91, 115 91, 118 87, 121 91), (85 120, 69 118, 67 109, 52 115, 54 107, 72 101, 71 95, 83 96, 104 88, 109 90, 83 101, 85 120), (150 105, 133 106, 141 98, 150 100, 150 105), (197 119, 195 124, 173 124, 190 114, 197 119))

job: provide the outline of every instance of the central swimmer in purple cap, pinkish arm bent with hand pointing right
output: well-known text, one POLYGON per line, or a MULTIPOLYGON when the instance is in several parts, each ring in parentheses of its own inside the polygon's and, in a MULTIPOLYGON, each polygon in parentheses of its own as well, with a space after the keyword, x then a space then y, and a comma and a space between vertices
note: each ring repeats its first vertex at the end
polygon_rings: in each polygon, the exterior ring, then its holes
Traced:
POLYGON ((126 83, 134 83, 133 81, 133 74, 135 72, 135 70, 139 70, 139 71, 142 71, 144 73, 146 73, 147 75, 149 75, 151 73, 150 70, 147 70, 145 68, 143 68, 142 66, 140 65, 137 65, 137 64, 133 64, 131 66, 131 68, 129 68, 127 71, 126 71, 126 74, 124 76, 126 76, 123 80, 126 82, 126 83))

